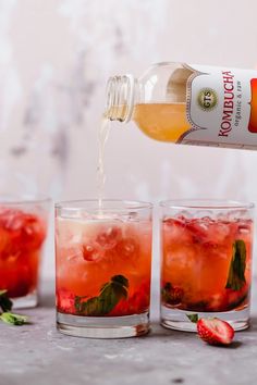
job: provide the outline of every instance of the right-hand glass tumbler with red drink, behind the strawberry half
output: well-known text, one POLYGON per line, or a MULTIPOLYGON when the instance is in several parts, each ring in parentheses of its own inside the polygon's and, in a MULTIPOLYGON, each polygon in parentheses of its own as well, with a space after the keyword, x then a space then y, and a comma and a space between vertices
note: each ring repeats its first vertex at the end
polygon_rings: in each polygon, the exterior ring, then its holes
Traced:
POLYGON ((161 324, 196 331, 188 314, 249 326, 253 203, 162 201, 161 324))

